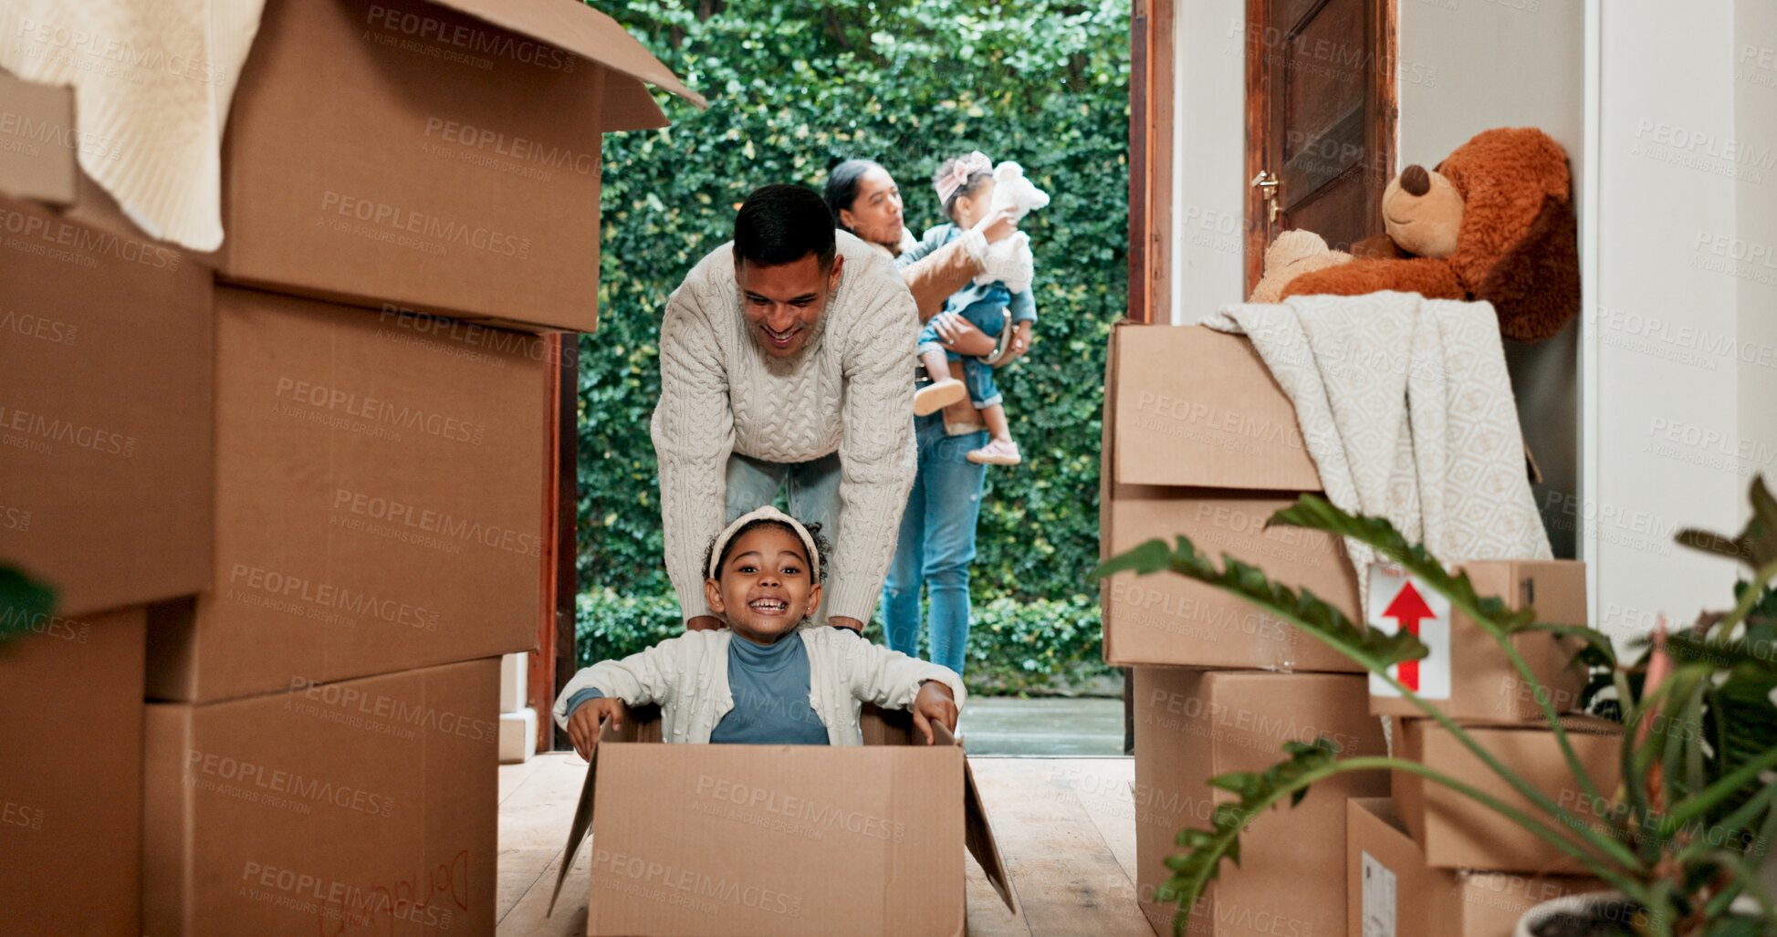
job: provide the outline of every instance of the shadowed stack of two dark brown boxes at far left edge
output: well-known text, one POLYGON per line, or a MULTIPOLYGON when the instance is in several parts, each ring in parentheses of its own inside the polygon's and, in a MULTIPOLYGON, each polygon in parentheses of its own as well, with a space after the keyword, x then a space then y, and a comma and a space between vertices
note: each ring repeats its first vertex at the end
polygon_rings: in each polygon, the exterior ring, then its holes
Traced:
MULTIPOLYGON (((0 130, 71 174, 59 124, 0 92, 0 130)), ((210 583, 210 272, 0 194, 0 565, 59 594, 0 608, 0 907, 18 933, 140 933, 142 606, 210 583)))

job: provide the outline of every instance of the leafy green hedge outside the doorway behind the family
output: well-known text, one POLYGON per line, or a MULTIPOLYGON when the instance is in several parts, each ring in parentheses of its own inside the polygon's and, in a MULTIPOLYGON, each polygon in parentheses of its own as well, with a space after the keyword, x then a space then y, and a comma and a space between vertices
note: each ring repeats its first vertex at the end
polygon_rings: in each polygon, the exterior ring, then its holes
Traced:
MULTIPOLYGON (((606 137, 601 324, 579 343, 585 587, 594 596, 672 594, 649 439, 659 316, 691 265, 729 240, 746 192, 771 181, 819 187, 841 160, 874 158, 901 183, 919 235, 944 220, 928 185, 938 162, 979 148, 1018 160, 1052 196, 1022 226, 1036 252, 1036 343, 999 375, 1025 464, 988 471, 974 565, 977 629, 1016 631, 1008 647, 1024 651, 983 663, 1022 669, 1096 654, 1088 649, 1096 613, 1088 622, 1045 601, 1072 596, 1098 553, 1104 348, 1128 279, 1128 4, 595 5, 711 107, 661 98, 672 126, 606 137), (1029 605, 1029 617, 1004 612, 1002 599, 1029 605), (1059 622, 1068 647, 1038 637, 1045 619, 1059 622), (1006 624, 1013 621, 1027 624, 1006 624)), ((636 603, 636 615, 652 608, 636 603)))

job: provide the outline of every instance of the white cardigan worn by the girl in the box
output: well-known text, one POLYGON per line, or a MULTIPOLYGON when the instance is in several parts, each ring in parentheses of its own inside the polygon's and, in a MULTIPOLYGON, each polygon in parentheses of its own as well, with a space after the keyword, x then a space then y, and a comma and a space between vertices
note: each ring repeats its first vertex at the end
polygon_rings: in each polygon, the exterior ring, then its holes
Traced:
MULTIPOLYGON (((826 725, 828 745, 864 745, 858 713, 864 702, 910 709, 919 685, 935 679, 963 708, 963 681, 940 667, 871 644, 849 628, 807 626, 794 637, 809 645, 809 706, 826 725)), ((594 663, 574 674, 554 704, 556 725, 567 729, 567 702, 581 690, 599 690, 631 706, 659 704, 663 741, 709 741, 721 717, 734 709, 729 692, 729 642, 734 631, 686 631, 624 660, 594 663)))

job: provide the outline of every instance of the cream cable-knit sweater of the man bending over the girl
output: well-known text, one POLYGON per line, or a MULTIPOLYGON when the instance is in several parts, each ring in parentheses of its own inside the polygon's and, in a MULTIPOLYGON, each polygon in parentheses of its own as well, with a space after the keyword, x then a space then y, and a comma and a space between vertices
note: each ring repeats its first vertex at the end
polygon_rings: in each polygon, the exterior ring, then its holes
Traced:
POLYGON ((913 345, 919 316, 901 274, 839 231, 839 290, 793 359, 759 348, 741 311, 732 242, 666 300, 654 407, 666 573, 686 619, 704 603, 704 549, 727 525, 729 453, 809 462, 839 452, 839 542, 828 615, 869 621, 913 487, 913 345))

